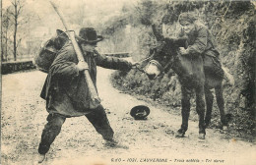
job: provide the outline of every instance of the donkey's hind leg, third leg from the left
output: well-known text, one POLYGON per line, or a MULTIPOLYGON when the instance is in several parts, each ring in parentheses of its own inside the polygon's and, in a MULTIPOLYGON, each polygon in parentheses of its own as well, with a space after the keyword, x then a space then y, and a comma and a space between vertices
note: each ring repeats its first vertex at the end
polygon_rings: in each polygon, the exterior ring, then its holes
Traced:
POLYGON ((213 101, 214 101, 214 95, 212 91, 208 88, 205 88, 205 97, 206 97, 206 107, 207 107, 205 123, 206 123, 206 127, 208 127, 211 123, 213 101))

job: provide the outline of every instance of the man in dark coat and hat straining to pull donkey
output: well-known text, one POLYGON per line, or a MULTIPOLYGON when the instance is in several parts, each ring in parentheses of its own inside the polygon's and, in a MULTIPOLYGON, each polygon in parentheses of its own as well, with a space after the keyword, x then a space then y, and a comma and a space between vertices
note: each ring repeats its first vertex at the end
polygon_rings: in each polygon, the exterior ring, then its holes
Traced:
POLYGON ((96 35, 93 27, 81 28, 78 43, 87 63, 79 62, 73 45, 67 43, 58 52, 49 69, 40 95, 46 100, 46 110, 49 115, 38 147, 39 163, 44 160, 50 144, 60 133, 66 118, 86 116, 106 142, 110 145, 116 143, 102 105, 94 109, 91 107, 89 88, 83 72, 89 70, 96 86, 96 66, 129 71, 132 64, 122 59, 98 54, 95 48, 100 40, 102 37, 96 35))

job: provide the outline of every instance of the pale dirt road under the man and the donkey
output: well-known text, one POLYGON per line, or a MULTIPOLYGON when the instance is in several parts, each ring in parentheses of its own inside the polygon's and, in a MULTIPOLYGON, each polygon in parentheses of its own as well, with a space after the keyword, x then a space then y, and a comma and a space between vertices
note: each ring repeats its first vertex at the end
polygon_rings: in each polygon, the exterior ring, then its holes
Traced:
MULTIPOLYGON (((207 130, 199 140, 198 123, 189 122, 186 138, 174 138, 181 117, 150 103, 121 93, 111 86, 113 71, 98 68, 98 91, 110 125, 124 148, 107 148, 85 117, 67 119, 43 164, 47 165, 187 165, 256 164, 255 145, 225 138, 219 130, 207 130), (135 121, 129 111, 148 105, 148 120, 135 121)), ((46 75, 39 71, 2 77, 2 165, 32 165, 40 134, 46 123, 45 103, 39 97, 46 75)))

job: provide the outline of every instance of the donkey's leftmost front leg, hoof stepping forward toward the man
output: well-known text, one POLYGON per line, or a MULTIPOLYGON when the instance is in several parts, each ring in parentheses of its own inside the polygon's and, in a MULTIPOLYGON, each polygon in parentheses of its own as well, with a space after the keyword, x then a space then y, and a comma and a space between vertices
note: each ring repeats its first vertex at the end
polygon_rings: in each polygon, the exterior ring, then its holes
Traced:
POLYGON ((182 124, 181 128, 177 131, 175 137, 183 138, 188 128, 188 118, 190 112, 190 90, 184 86, 181 86, 182 98, 181 98, 181 115, 182 124))

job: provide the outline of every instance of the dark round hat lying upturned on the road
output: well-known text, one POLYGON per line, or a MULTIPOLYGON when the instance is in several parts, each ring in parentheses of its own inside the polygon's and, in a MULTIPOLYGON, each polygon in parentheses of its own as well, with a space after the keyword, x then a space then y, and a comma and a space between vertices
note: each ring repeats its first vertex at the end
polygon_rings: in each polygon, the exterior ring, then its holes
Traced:
POLYGON ((150 108, 145 105, 135 106, 131 109, 130 112, 130 115, 135 119, 145 119, 149 114, 150 108))

